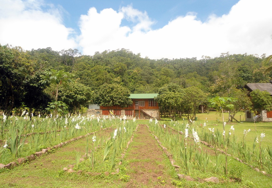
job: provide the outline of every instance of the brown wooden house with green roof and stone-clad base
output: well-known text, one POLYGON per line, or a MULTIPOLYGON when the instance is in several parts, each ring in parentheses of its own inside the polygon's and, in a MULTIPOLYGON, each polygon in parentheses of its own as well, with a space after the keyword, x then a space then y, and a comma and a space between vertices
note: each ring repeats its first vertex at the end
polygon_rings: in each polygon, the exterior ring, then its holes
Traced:
POLYGON ((130 94, 129 98, 133 101, 133 104, 128 107, 113 106, 108 110, 108 106, 98 106, 95 104, 89 104, 88 116, 109 116, 115 115, 123 117, 127 116, 128 119, 150 119, 160 117, 159 106, 154 98, 158 96, 158 93, 142 93, 142 94, 130 94))

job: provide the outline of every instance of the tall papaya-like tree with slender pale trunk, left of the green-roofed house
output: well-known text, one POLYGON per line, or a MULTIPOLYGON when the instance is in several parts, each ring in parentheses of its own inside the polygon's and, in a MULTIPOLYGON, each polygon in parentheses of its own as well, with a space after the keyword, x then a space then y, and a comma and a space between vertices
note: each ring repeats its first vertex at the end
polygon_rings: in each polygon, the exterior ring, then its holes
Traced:
POLYGON ((50 69, 49 71, 44 71, 44 74, 41 75, 41 83, 50 83, 56 85, 56 98, 55 101, 58 101, 58 88, 63 83, 71 81, 72 75, 69 72, 64 72, 63 70, 50 69))

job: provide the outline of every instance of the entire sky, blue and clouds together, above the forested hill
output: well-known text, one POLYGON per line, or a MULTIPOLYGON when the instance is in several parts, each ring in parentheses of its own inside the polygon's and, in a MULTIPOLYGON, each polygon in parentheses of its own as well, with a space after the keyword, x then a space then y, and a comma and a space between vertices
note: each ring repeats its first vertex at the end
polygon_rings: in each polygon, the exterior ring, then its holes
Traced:
POLYGON ((272 54, 271 0, 0 0, 0 44, 150 59, 272 54))

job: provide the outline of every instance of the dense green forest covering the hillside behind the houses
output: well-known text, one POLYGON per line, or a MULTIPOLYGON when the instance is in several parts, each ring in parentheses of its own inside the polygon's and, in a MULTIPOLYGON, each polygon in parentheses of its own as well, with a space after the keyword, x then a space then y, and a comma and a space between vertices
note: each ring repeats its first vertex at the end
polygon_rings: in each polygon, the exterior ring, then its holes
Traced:
POLYGON ((103 84, 117 84, 130 93, 162 93, 172 84, 179 89, 197 88, 206 98, 232 96, 246 83, 269 82, 272 75, 264 74, 264 58, 265 54, 227 52, 199 60, 154 60, 127 49, 87 56, 77 49, 26 51, 0 45, 0 109, 16 115, 24 109, 45 114, 50 108, 79 113, 103 84))

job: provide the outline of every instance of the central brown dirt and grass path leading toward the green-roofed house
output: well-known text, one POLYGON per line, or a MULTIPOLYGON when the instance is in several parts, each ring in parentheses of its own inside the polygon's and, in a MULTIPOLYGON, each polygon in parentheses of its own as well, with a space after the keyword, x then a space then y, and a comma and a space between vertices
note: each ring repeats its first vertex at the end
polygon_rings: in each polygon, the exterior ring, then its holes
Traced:
POLYGON ((145 125, 139 125, 135 132, 125 161, 130 176, 126 187, 174 187, 174 168, 145 125))

